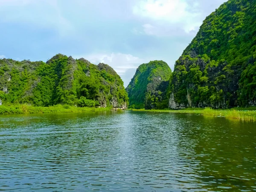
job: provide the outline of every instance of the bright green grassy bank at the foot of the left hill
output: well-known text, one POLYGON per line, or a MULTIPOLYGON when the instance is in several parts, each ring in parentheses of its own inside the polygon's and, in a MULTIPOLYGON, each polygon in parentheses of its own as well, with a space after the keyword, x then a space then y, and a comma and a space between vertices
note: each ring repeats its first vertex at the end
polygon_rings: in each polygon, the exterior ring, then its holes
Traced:
POLYGON ((83 113, 91 111, 110 111, 111 108, 78 108, 70 105, 54 105, 51 107, 35 107, 29 105, 2 105, 0 114, 26 114, 26 113, 83 113))

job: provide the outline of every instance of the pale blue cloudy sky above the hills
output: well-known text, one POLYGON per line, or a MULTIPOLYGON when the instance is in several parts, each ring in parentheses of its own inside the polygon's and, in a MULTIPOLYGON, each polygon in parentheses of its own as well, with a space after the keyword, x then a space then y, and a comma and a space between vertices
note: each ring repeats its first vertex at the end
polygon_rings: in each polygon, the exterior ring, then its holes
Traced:
POLYGON ((140 64, 175 61, 227 0, 0 0, 0 58, 103 62, 125 87, 140 64))

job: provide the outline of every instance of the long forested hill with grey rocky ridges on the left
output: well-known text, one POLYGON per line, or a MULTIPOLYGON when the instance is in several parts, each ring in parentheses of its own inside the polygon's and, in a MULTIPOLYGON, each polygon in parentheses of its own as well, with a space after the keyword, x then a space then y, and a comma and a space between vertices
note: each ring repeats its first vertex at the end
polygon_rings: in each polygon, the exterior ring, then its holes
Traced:
POLYGON ((110 66, 61 54, 47 63, 1 59, 0 99, 5 103, 36 106, 126 108, 128 105, 123 81, 110 66))

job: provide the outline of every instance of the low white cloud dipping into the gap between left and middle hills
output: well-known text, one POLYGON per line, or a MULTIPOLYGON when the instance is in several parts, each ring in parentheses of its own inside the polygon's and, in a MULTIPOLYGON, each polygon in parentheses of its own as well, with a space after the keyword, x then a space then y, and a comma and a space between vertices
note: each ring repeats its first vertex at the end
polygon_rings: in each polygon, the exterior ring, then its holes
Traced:
POLYGON ((76 55, 74 58, 85 58, 93 64, 108 64, 119 74, 119 76, 121 76, 125 87, 129 84, 140 64, 148 63, 150 61, 149 59, 143 59, 131 54, 123 53, 76 55))

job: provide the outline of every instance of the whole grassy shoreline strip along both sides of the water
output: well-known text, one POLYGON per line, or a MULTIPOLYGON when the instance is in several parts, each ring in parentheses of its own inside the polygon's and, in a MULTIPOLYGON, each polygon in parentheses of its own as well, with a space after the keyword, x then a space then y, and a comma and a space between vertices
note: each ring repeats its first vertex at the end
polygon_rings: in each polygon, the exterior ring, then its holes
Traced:
MULTIPOLYGON (((256 108, 255 108, 256 109, 256 108)), ((35 107, 30 105, 1 105, 0 115, 7 114, 35 114, 35 113, 84 113, 84 112, 100 112, 112 111, 113 108, 90 108, 75 107, 70 105, 54 105, 50 107, 35 107)), ((232 108, 232 109, 211 109, 211 108, 188 108, 182 110, 145 110, 145 109, 126 109, 128 111, 145 111, 155 113, 191 113, 201 114, 212 117, 225 117, 227 119, 237 119, 246 122, 256 122, 256 110, 250 108, 232 108)), ((119 110, 117 110, 119 111, 119 110)), ((121 110, 120 110, 121 111, 121 110)))

